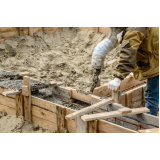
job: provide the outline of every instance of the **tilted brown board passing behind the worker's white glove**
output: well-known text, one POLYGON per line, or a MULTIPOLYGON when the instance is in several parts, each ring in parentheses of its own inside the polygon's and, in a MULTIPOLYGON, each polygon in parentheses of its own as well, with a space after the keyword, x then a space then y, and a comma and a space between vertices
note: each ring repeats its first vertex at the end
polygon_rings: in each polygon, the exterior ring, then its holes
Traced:
MULTIPOLYGON (((146 80, 137 81, 134 79, 132 75, 129 75, 124 80, 122 80, 121 85, 120 85, 120 91, 124 91, 124 90, 127 90, 129 88, 132 88, 137 85, 144 84, 144 83, 146 83, 146 80)), ((108 97, 111 94, 112 94, 112 91, 108 89, 108 83, 95 88, 93 91, 93 95, 96 95, 99 97, 108 97)))

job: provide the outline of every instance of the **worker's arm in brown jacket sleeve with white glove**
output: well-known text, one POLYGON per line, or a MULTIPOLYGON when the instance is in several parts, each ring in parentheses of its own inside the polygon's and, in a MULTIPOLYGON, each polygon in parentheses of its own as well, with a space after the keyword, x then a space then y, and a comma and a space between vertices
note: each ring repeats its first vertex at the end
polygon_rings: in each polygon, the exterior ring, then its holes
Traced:
POLYGON ((145 38, 146 29, 146 27, 129 27, 126 29, 116 70, 114 71, 116 78, 109 82, 110 89, 117 90, 121 81, 130 72, 133 72, 137 59, 137 50, 145 38))

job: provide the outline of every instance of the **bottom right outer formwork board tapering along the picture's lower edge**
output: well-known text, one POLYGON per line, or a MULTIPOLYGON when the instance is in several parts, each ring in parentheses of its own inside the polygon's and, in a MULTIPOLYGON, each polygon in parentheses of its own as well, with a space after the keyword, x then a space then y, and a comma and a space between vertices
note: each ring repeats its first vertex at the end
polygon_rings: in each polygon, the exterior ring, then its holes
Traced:
POLYGON ((136 131, 133 131, 131 129, 127 129, 104 120, 98 120, 98 132, 99 133, 137 133, 136 131))

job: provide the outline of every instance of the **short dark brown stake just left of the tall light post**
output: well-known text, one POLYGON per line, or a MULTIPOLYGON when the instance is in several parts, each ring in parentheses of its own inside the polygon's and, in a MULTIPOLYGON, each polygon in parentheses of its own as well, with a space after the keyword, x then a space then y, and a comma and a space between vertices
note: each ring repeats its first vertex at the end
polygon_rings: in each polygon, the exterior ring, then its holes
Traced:
POLYGON ((24 108, 23 108, 23 95, 16 95, 16 117, 24 116, 24 108))

